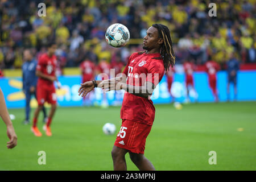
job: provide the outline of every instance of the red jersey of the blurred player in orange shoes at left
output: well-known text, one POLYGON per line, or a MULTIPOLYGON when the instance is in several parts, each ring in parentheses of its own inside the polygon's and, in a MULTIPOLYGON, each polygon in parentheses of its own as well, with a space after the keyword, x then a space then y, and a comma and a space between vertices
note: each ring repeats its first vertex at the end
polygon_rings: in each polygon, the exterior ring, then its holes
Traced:
MULTIPOLYGON (((49 57, 47 53, 42 54, 38 59, 36 70, 48 76, 55 76, 57 59, 55 55, 49 57)), ((39 85, 53 85, 53 82, 44 78, 38 78, 39 85)))

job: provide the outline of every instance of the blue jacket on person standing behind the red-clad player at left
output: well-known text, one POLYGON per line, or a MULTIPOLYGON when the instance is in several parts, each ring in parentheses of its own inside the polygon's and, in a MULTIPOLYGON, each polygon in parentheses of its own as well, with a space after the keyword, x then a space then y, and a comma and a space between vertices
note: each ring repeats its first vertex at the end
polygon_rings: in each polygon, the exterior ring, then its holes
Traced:
POLYGON ((26 61, 22 65, 23 90, 30 89, 31 86, 36 87, 38 77, 36 77, 36 65, 38 61, 35 59, 26 61))

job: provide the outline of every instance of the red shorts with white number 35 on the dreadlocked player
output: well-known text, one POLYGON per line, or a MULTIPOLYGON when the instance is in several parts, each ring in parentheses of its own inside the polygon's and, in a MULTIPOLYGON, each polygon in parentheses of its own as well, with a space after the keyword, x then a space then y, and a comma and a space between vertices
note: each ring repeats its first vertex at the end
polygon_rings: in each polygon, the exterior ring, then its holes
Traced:
POLYGON ((144 154, 146 138, 150 133, 151 127, 144 123, 123 119, 114 145, 125 148, 135 154, 144 154))

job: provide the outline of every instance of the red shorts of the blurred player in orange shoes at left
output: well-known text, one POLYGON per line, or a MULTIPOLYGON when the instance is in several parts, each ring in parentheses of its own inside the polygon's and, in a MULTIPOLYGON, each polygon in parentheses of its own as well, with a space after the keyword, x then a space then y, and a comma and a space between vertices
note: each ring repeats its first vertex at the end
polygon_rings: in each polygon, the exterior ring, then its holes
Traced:
POLYGON ((38 105, 43 105, 44 102, 49 104, 57 103, 57 95, 54 85, 38 85, 36 86, 36 98, 38 105))

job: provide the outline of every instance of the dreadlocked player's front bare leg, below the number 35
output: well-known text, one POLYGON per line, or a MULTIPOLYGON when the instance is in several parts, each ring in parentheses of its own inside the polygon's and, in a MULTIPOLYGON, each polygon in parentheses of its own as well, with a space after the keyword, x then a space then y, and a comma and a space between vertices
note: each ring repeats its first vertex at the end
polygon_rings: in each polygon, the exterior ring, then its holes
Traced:
POLYGON ((111 152, 113 164, 114 164, 114 171, 126 171, 126 161, 125 161, 125 154, 128 150, 124 148, 120 148, 114 146, 111 152))

